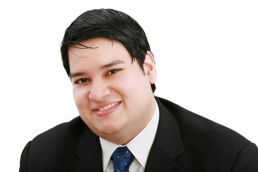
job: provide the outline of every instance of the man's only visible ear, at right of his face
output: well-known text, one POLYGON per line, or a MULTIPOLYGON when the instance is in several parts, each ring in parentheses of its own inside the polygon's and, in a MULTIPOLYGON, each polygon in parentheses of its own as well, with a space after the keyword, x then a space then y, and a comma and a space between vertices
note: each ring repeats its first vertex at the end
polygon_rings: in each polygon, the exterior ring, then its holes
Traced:
POLYGON ((149 83, 154 84, 157 81, 157 70, 155 66, 154 57, 149 51, 147 51, 145 55, 143 69, 144 69, 145 75, 149 79, 149 83))

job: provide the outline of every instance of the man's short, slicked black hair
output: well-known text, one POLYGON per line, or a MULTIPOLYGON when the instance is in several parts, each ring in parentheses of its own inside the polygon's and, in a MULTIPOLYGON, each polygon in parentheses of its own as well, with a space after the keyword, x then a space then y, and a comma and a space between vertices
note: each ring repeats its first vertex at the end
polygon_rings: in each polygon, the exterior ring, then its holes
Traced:
MULTIPOLYGON (((91 38, 105 37, 122 43, 143 69, 147 51, 150 51, 143 28, 129 15, 114 9, 94 9, 77 17, 65 30, 61 43, 63 66, 70 77, 68 48, 91 38)), ((144 69, 143 69, 144 70, 144 69)), ((151 84, 152 92, 155 84, 151 84)))

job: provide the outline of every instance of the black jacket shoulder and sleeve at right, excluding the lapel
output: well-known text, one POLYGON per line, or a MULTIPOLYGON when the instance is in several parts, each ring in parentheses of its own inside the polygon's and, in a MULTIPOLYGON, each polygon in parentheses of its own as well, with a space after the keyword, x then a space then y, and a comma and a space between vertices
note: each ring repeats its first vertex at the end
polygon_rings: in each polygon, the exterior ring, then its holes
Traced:
MULTIPOLYGON (((204 168, 206 171, 258 169, 258 148, 245 137, 205 117, 188 111, 166 99, 157 98, 159 108, 173 116, 180 132, 184 153, 177 163, 186 169, 204 168), (188 165, 185 165, 188 164, 188 165), (197 166, 195 166, 197 165, 197 166), (220 169, 220 170, 219 170, 220 169)), ((160 114, 162 116, 162 114, 160 114)), ((203 169, 202 169, 203 170, 203 169)), ((200 169, 201 171, 201 169, 200 169)))

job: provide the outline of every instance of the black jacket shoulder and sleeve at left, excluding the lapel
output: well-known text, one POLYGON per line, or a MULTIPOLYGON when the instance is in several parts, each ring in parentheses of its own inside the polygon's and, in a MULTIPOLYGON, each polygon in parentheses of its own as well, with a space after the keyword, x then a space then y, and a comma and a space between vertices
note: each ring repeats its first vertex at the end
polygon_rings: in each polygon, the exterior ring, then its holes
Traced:
POLYGON ((76 117, 36 136, 24 148, 20 172, 67 171, 75 158, 74 150, 88 127, 76 117))

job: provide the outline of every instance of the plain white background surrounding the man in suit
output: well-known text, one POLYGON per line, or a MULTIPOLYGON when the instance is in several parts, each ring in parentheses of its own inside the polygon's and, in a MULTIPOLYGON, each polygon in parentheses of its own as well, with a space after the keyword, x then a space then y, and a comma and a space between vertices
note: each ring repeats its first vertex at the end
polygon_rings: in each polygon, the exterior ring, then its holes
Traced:
POLYGON ((258 143, 257 0, 9 0, 0 2, 1 172, 18 171, 29 140, 78 115, 59 45, 94 8, 121 10, 143 27, 155 95, 258 143))

